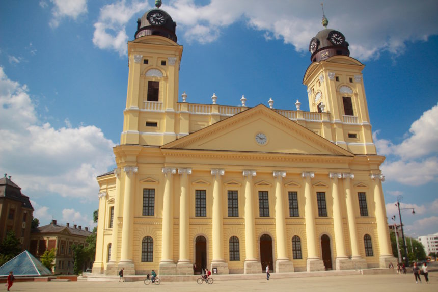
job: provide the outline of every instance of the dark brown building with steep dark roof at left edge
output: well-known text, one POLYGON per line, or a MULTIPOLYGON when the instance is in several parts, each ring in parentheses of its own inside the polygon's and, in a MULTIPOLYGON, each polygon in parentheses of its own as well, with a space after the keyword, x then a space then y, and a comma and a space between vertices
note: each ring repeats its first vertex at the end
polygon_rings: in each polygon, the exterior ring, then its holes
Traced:
POLYGON ((28 249, 33 211, 29 197, 21 194, 21 188, 5 173, 5 177, 0 178, 0 242, 14 230, 21 250, 28 249))

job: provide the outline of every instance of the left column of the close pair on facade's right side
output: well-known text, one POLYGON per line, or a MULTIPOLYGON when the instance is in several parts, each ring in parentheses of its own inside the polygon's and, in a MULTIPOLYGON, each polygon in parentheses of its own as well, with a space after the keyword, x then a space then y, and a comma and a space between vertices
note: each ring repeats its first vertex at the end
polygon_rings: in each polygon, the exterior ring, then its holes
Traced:
POLYGON ((336 270, 351 270, 353 269, 352 261, 348 259, 345 251, 345 238, 344 238, 344 223, 341 208, 341 197, 343 195, 339 192, 339 181, 342 179, 342 173, 329 173, 329 177, 332 183, 332 198, 333 198, 333 226, 335 231, 335 245, 336 245, 336 270))

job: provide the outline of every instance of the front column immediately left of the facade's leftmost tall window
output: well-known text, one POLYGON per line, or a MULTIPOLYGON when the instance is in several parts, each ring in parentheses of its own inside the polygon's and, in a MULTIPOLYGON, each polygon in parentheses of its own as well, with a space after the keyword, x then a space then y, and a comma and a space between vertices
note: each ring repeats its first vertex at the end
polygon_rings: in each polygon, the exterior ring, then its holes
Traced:
POLYGON ((126 275, 135 275, 134 261, 132 260, 132 235, 134 230, 134 197, 136 166, 125 166, 125 191, 123 198, 123 225, 122 225, 122 248, 119 268, 125 268, 126 275))

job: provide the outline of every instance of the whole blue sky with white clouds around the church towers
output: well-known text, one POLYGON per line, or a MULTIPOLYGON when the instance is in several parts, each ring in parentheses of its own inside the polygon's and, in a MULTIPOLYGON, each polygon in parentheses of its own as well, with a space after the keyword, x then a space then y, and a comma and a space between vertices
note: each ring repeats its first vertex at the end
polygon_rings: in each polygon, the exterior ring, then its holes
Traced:
MULTIPOLYGON (((163 0, 184 46, 179 99, 308 111, 302 84, 320 0, 163 0)), ((0 2, 0 171, 29 196, 40 226, 94 227, 96 177, 115 167, 128 77, 127 42, 154 1, 0 2)), ((438 2, 324 1, 363 70, 388 223, 438 232, 438 2), (403 198, 401 199, 402 196, 403 198), (412 214, 414 208, 415 214, 412 214), (396 215, 395 221, 391 217, 396 215)))

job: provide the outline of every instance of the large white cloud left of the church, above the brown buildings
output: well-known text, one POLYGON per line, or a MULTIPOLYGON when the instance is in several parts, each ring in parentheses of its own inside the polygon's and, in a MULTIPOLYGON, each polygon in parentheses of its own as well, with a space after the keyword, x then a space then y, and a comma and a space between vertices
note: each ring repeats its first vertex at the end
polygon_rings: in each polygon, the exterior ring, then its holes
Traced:
POLYGON ((0 67, 0 169, 14 173, 24 193, 95 200, 95 177, 114 164, 114 143, 93 125, 66 124, 41 123, 28 88, 0 67))

